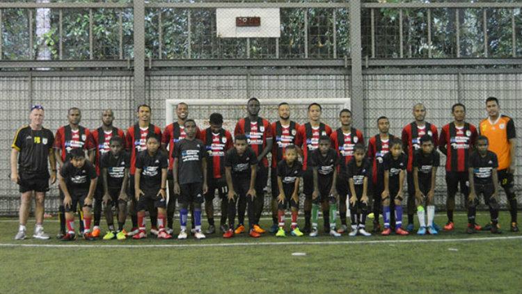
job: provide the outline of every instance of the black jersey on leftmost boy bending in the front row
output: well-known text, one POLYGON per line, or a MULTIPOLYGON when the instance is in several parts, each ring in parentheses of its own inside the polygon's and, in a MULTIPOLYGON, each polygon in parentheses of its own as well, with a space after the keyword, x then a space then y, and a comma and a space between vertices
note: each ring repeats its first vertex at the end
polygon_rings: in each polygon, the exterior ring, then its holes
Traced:
POLYGON ((71 195, 88 193, 90 180, 97 177, 96 169, 90 161, 85 161, 81 168, 74 168, 70 161, 66 161, 60 170, 60 175, 67 182, 71 195))

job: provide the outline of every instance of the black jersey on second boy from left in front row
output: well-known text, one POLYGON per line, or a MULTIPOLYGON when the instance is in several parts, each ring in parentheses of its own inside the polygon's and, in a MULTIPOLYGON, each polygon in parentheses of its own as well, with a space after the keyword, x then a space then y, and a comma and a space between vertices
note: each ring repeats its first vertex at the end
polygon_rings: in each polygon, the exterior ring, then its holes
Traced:
POLYGON ((100 167, 107 169, 107 186, 109 188, 121 188, 125 177, 125 168, 130 168, 130 155, 128 152, 120 152, 118 157, 109 151, 102 155, 100 167))

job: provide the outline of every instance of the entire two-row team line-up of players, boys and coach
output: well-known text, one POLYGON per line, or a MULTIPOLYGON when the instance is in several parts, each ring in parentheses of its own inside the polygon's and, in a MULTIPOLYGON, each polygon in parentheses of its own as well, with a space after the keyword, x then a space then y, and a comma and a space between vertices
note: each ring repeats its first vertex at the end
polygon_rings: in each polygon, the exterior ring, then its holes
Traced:
POLYGON ((177 105, 177 121, 166 126, 163 132, 151 124, 151 109, 147 105, 139 106, 138 122, 126 132, 113 126, 111 110, 103 111, 102 126, 91 132, 80 125, 81 111, 70 108, 69 124, 59 128, 56 136, 42 126, 43 107, 33 106, 30 124, 17 131, 12 145, 11 179, 19 184, 22 193, 20 225, 15 238, 26 238, 25 225, 33 195, 36 202, 33 237, 49 238, 42 226, 44 198, 49 181, 54 183, 56 179, 62 200, 58 237, 63 240, 77 238, 74 229, 77 209, 84 238, 100 237, 102 204, 108 226, 104 240, 146 238, 145 211, 150 214, 151 233, 157 238, 172 238, 176 203, 180 206, 177 238, 188 236, 189 211, 191 232, 196 238, 205 238, 201 228, 202 204, 205 202, 209 222, 205 233, 214 234, 216 190, 221 199, 223 237, 231 238, 246 231, 246 213, 248 234, 257 238, 265 232, 259 221, 269 177, 273 219, 269 231, 276 236, 287 234, 286 209, 290 209, 292 215, 292 236, 317 236, 319 209, 324 230, 335 237, 348 231, 349 236, 370 236, 365 229, 367 215, 373 218, 372 231, 382 235, 393 231, 399 235, 409 234, 414 229, 415 213, 419 220, 417 234, 438 234, 441 229, 451 231, 458 190, 466 197, 466 232, 489 229, 500 233, 498 186, 502 186, 507 195, 512 217, 510 229, 519 231, 513 183, 514 123, 510 117, 500 114, 495 97, 486 99, 486 108, 488 117, 476 128, 465 121, 465 106, 454 104, 451 108, 454 120, 443 126, 439 136, 436 126, 425 120, 425 106, 416 104, 413 106, 415 120, 404 126, 401 137, 388 132, 387 117, 379 117, 379 133, 365 146, 362 132, 351 125, 351 111, 340 111, 341 126, 333 131, 321 122, 322 107, 317 103, 308 106, 309 120, 299 125, 290 119, 290 105, 283 102, 278 106, 279 120, 270 124, 258 116, 260 101, 251 98, 247 102, 248 115, 237 122, 233 139, 232 134, 223 129, 223 116, 219 113, 210 115, 207 129, 198 129, 196 122, 189 119, 186 103, 177 105), (433 222, 436 169, 440 165, 437 147, 446 156, 448 222, 443 228, 433 222), (267 160, 270 152, 271 163, 267 160), (297 223, 300 181, 303 181, 305 195, 302 230, 297 223), (487 228, 475 223, 480 195, 491 214, 487 228), (408 224, 403 229, 404 198, 408 224), (113 222, 114 211, 118 213, 118 229, 113 222), (338 211, 340 227, 336 221, 338 211), (132 220, 132 229, 128 232, 124 229, 127 212, 132 220), (379 214, 383 215, 383 227, 379 214))

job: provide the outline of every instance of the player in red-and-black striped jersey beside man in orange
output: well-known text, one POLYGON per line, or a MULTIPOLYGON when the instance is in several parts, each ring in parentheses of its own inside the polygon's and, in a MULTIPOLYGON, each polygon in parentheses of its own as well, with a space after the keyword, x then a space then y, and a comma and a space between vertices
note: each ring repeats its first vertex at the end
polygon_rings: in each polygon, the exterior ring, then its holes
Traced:
MULTIPOLYGON (((451 113, 453 122, 446 124, 441 129, 441 137, 438 139, 438 149, 446 156, 446 185, 448 186, 448 197, 446 198, 446 213, 448 222, 444 226, 445 231, 454 228, 453 211, 455 209, 455 194, 460 190, 468 203, 469 180, 468 159, 473 151, 477 138, 477 128, 466 122, 466 106, 464 104, 453 104, 451 113)), ((482 229, 475 224, 476 230, 482 229)))

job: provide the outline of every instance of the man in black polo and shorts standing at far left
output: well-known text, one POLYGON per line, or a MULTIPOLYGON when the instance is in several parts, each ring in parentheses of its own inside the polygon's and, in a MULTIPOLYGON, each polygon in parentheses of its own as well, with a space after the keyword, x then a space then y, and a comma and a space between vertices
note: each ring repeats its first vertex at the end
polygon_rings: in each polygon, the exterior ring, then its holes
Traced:
POLYGON ((17 183, 22 193, 19 209, 19 228, 16 240, 26 238, 26 224, 31 210, 31 198, 35 199, 36 225, 33 238, 49 239, 43 229, 45 193, 49 190, 49 180, 56 181, 56 160, 54 158, 52 131, 42 126, 44 108, 31 107, 29 125, 18 129, 11 145, 11 181, 17 183), (49 175, 49 165, 51 174, 49 175))

